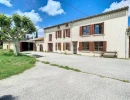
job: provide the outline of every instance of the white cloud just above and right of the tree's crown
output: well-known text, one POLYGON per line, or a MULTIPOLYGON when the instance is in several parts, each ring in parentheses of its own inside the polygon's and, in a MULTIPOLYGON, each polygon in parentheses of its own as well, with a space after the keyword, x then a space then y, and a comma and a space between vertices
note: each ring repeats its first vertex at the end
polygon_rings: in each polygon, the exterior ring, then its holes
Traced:
POLYGON ((29 17, 34 24, 37 24, 38 22, 42 22, 42 18, 40 17, 40 15, 38 13, 35 12, 35 10, 32 10, 31 12, 22 12, 22 11, 18 10, 15 13, 22 15, 22 16, 25 15, 25 16, 29 17))

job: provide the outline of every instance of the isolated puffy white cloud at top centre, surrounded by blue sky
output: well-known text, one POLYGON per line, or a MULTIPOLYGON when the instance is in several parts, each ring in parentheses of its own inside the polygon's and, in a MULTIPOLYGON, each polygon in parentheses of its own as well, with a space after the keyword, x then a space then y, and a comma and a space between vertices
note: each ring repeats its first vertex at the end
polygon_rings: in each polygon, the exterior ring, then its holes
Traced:
POLYGON ((46 12, 50 16, 56 16, 65 13, 61 8, 61 3, 54 0, 48 0, 46 6, 39 8, 42 12, 46 12))

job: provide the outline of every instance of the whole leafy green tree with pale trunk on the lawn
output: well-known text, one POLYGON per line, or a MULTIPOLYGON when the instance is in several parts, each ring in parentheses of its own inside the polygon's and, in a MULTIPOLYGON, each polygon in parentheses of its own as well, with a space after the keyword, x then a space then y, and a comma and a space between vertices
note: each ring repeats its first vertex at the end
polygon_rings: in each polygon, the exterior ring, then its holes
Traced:
POLYGON ((13 14, 12 17, 8 17, 4 14, 0 14, 0 35, 2 35, 4 39, 14 43, 15 55, 19 53, 19 41, 23 39, 26 34, 32 34, 36 31, 33 22, 26 16, 13 14))

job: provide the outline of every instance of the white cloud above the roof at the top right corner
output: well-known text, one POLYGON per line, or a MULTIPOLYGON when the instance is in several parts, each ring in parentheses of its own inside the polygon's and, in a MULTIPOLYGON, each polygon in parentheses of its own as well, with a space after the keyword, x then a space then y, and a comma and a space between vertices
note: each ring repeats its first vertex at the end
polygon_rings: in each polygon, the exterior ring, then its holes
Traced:
MULTIPOLYGON (((113 2, 109 8, 106 8, 103 12, 106 11, 110 11, 110 10, 114 10, 114 9, 118 9, 118 8, 122 8, 125 6, 129 6, 130 7, 130 0, 122 0, 120 2, 113 2)), ((129 16, 130 16, 130 10, 129 10, 129 16)))

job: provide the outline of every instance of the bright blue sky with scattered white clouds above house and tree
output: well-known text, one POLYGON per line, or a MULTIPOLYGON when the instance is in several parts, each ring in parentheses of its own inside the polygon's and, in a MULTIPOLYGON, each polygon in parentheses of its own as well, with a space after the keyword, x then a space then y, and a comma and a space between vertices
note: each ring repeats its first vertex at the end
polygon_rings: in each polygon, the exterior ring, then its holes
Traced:
POLYGON ((45 27, 124 6, 130 7, 130 0, 0 0, 0 13, 26 15, 36 26, 38 37, 43 37, 45 27))

